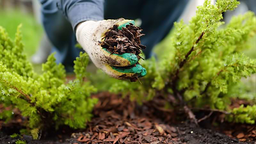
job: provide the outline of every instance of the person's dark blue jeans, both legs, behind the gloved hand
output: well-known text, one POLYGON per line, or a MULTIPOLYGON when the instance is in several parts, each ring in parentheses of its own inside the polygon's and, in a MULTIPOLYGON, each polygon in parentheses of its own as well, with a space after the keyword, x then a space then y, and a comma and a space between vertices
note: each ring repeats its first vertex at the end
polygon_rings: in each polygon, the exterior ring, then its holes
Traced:
MULTIPOLYGON (((104 19, 141 19, 141 28, 146 34, 141 37, 141 44, 147 46, 143 52, 146 58, 150 58, 153 47, 169 33, 187 3, 188 0, 108 0, 104 5, 104 19)), ((75 47, 77 41, 72 26, 58 10, 56 0, 42 3, 42 22, 54 45, 52 52, 56 52, 56 62, 73 66, 81 49, 75 47)))

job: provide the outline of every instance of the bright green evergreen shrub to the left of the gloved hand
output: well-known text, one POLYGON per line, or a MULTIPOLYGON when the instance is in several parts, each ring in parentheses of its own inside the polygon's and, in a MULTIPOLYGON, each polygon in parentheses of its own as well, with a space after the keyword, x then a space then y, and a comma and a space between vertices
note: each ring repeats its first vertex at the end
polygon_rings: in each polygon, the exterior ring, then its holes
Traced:
MULTIPOLYGON (((18 108, 28 119, 25 125, 35 139, 41 130, 49 127, 84 128, 97 103, 97 99, 90 98, 96 89, 84 81, 88 55, 81 53, 74 61, 77 79, 67 83, 65 69, 55 63, 54 54, 43 64, 44 73, 39 76, 23 49, 20 26, 15 42, 0 26, 0 104, 18 108)), ((0 113, 0 118, 6 122, 10 120, 12 109, 0 113)))

